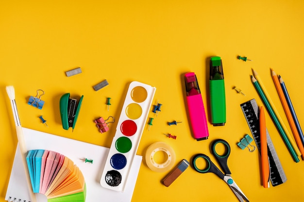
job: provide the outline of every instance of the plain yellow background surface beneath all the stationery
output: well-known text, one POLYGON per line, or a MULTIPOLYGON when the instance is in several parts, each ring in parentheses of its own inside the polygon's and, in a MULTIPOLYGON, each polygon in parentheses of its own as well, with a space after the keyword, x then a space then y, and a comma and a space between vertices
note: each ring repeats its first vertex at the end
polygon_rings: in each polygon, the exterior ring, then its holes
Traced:
MULTIPOLYGON (((15 87, 22 126, 109 147, 117 125, 111 124, 101 134, 93 120, 99 116, 118 119, 133 80, 155 86, 153 104, 158 100, 162 104, 157 117, 152 110, 148 116, 155 119, 150 131, 146 124, 138 155, 145 155, 153 142, 164 141, 174 149, 177 165, 198 153, 210 155, 210 143, 221 138, 231 146, 232 177, 251 202, 303 201, 304 162, 293 161, 268 113, 267 127, 287 182, 263 188, 258 152, 236 145, 246 133, 251 135, 240 104, 253 98, 262 104, 250 79, 251 68, 259 73, 289 128, 270 68, 283 77, 304 127, 303 11, 303 0, 1 0, 0 202, 4 202, 17 145, 5 86, 15 87), (238 55, 253 61, 239 61, 238 55), (209 111, 206 72, 211 56, 220 56, 223 62, 227 123, 214 127, 208 122, 209 139, 196 141, 187 118, 183 75, 196 73, 209 111), (66 77, 65 72, 76 67, 83 73, 66 77), (104 79, 109 85, 95 92, 92 86, 104 79), (233 86, 246 96, 237 94, 233 86), (42 110, 27 104, 37 89, 45 91, 42 110), (64 93, 84 95, 74 132, 62 129, 59 99, 64 93), (112 98, 109 111, 107 97, 112 98), (40 115, 49 127, 41 123, 40 115), (173 120, 183 123, 169 126, 167 122, 173 120)), ((238 201, 215 174, 200 174, 189 167, 166 187, 161 180, 167 174, 151 171, 143 159, 132 202, 238 201)))

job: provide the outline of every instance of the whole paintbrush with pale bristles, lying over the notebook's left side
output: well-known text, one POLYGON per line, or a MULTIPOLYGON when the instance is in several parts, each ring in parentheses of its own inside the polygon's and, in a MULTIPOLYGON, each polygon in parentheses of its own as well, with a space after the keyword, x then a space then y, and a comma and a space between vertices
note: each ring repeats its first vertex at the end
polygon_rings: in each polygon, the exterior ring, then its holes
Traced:
POLYGON ((16 124, 18 145, 20 148, 20 152, 21 152, 21 156, 22 156, 22 163, 23 163, 26 179, 28 182, 29 194, 32 199, 31 202, 36 202, 36 195, 33 193, 33 190, 32 190, 31 178, 30 178, 30 174, 29 174, 29 170, 28 170, 27 162, 26 162, 27 149, 26 149, 26 144, 25 144, 25 140, 23 137, 23 131, 22 131, 19 115, 18 115, 16 100, 15 100, 14 86, 6 86, 6 92, 8 94, 8 97, 11 100, 12 111, 13 111, 14 120, 15 120, 15 124, 16 124))

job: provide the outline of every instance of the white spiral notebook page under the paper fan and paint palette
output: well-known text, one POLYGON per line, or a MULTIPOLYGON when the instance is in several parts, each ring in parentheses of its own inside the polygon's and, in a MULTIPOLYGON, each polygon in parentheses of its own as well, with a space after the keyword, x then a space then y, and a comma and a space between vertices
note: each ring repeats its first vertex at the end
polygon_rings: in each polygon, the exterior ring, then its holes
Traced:
MULTIPOLYGON (((68 156, 83 172, 86 183, 86 202, 131 202, 142 156, 136 155, 124 192, 117 192, 100 185, 102 169, 109 148, 71 140, 36 130, 23 128, 27 150, 45 149, 68 156), (81 159, 92 159, 93 163, 81 159)), ((5 200, 9 202, 31 202, 19 147, 17 146, 13 168, 5 200), (14 201, 15 199, 15 201, 14 201)), ((31 188, 32 190, 32 188, 31 188)), ((47 197, 36 193, 37 202, 47 202, 47 197)))

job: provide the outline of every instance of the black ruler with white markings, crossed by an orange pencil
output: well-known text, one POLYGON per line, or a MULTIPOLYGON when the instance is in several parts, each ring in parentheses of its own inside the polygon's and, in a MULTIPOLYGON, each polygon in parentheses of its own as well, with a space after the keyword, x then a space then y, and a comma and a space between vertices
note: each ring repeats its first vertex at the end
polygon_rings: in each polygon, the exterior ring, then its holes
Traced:
MULTIPOLYGON (((261 154, 261 138, 260 138, 260 128, 259 128, 259 120, 258 120, 259 108, 256 104, 255 99, 242 103, 241 108, 246 118, 246 121, 249 125, 249 128, 251 130, 251 133, 253 135, 255 144, 261 154)), ((266 133, 267 133, 268 157, 270 164, 270 181, 272 186, 277 186, 285 183, 287 178, 285 172, 283 171, 278 155, 275 152, 275 149, 273 147, 267 129, 266 129, 266 133)))

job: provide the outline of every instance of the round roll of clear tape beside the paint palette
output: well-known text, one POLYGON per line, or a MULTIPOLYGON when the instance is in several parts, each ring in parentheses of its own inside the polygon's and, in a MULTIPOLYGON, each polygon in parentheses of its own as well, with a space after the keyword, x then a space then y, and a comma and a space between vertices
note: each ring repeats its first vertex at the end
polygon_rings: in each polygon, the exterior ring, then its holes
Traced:
POLYGON ((174 150, 165 142, 155 142, 151 144, 146 151, 146 164, 152 171, 156 172, 169 171, 175 164, 175 158, 174 150), (154 155, 159 151, 167 154, 167 160, 163 163, 156 163, 154 161, 154 155))

